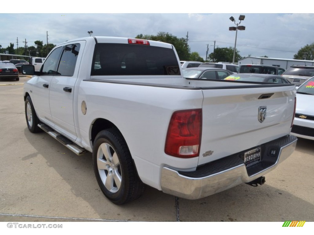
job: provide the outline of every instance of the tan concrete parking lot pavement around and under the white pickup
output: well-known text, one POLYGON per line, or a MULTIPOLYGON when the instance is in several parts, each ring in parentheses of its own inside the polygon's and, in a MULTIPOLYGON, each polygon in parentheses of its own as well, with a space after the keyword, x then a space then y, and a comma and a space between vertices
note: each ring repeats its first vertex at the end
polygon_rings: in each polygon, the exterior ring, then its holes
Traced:
POLYGON ((194 201, 147 187, 117 206, 100 191, 90 153, 76 156, 48 134, 28 131, 23 86, 0 86, 0 100, 0 221, 314 221, 313 141, 300 139, 262 186, 194 201))

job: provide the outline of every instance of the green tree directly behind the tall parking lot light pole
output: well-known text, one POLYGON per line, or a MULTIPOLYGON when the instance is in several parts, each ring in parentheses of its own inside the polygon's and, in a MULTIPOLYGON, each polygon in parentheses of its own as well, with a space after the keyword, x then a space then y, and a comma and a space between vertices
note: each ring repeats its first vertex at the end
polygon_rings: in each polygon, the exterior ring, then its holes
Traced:
MULTIPOLYGON (((240 56, 240 51, 236 49, 235 61, 240 60, 242 57, 240 56)), ((232 62, 233 60, 233 47, 217 47, 214 52, 210 53, 207 57, 208 61, 214 62, 232 62)))

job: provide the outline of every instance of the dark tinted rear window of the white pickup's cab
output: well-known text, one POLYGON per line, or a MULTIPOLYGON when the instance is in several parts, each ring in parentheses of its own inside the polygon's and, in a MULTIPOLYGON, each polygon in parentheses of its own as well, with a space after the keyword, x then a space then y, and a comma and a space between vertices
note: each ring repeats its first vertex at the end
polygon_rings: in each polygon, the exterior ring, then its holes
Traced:
POLYGON ((170 48, 138 44, 99 43, 91 75, 180 75, 170 48))

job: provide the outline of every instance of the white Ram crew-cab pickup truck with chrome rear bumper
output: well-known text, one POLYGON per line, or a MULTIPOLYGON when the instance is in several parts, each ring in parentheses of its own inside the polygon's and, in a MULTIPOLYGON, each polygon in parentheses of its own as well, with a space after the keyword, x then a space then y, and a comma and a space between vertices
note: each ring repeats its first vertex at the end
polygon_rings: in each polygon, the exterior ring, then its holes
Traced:
POLYGON ((24 84, 31 132, 92 152, 115 204, 144 185, 198 199, 263 184, 294 151, 295 85, 186 79, 171 44, 128 38, 66 41, 24 84))

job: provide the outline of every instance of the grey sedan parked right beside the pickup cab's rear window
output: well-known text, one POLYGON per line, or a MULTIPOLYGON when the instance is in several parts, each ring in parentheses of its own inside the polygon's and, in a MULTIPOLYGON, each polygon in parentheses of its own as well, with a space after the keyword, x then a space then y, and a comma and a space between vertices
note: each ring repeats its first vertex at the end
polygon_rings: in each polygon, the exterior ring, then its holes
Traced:
POLYGON ((224 79, 233 72, 225 69, 207 68, 207 67, 196 67, 187 68, 183 70, 183 77, 195 78, 195 79, 224 79))

